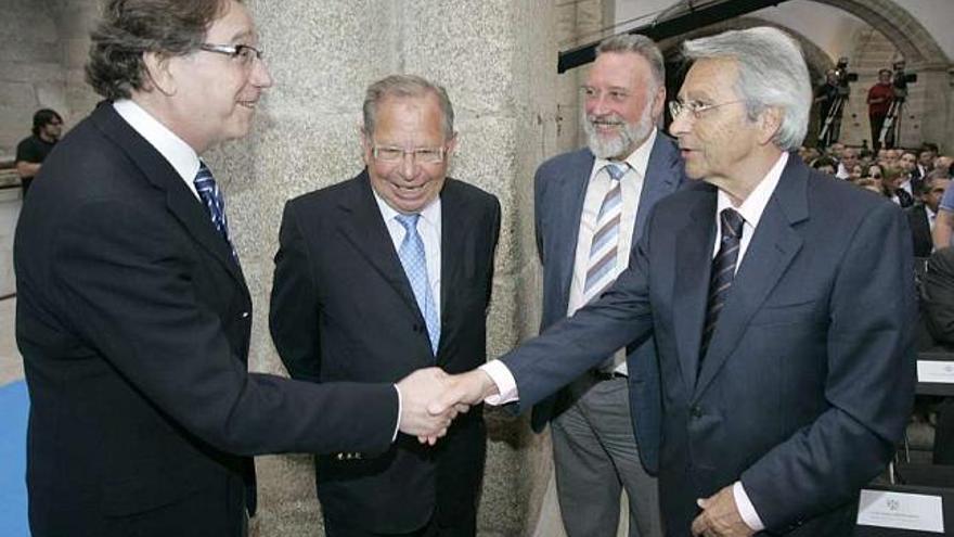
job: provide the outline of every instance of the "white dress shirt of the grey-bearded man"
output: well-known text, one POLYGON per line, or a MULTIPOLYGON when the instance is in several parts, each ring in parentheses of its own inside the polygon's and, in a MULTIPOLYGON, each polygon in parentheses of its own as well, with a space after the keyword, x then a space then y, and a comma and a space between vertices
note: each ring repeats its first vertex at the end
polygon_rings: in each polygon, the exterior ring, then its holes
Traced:
MULTIPOLYGON (((613 268, 613 278, 619 276, 630 264, 630 248, 633 244, 633 228, 636 223, 636 210, 640 207, 640 197, 643 192, 643 181, 646 177, 646 168, 649 165, 649 153, 656 143, 656 129, 643 141, 636 151, 626 158, 623 176, 619 187, 622 196, 622 214, 620 215, 619 241, 616 247, 616 265, 613 268)), ((613 187, 613 181, 606 166, 619 164, 605 158, 593 161, 590 170, 590 181, 586 184, 586 194, 583 197, 583 213, 580 216, 580 231, 577 235, 577 253, 573 263, 573 276, 570 281, 570 296, 567 304, 567 316, 573 315, 578 309, 585 306, 584 287, 586 284, 586 271, 590 269, 590 247, 593 244, 593 235, 596 234, 596 220, 600 208, 606 193, 613 187)), ((613 370, 617 373, 627 374, 626 348, 616 353, 613 370)))

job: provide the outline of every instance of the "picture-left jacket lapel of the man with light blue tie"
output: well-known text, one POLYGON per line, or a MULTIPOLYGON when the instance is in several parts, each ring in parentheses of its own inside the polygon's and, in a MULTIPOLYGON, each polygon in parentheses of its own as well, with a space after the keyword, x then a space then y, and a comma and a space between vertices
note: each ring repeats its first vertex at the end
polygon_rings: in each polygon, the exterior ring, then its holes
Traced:
POLYGON ((395 243, 381 217, 366 170, 356 178, 349 193, 338 205, 338 210, 341 212, 337 219, 338 231, 395 289, 412 315, 416 316, 417 322, 423 324, 424 317, 417 308, 417 301, 414 299, 411 283, 395 251, 395 243))

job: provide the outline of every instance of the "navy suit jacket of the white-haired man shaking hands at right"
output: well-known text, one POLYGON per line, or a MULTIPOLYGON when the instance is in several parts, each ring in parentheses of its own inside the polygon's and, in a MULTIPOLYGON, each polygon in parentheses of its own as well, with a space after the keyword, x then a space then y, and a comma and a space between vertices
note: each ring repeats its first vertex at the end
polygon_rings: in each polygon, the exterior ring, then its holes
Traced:
POLYGON ((714 220, 706 183, 658 202, 616 284, 503 358, 519 407, 653 333, 667 530, 688 535, 696 498, 740 480, 769 529, 850 535, 859 488, 894 452, 913 400, 906 219, 789 157, 697 375, 714 220))

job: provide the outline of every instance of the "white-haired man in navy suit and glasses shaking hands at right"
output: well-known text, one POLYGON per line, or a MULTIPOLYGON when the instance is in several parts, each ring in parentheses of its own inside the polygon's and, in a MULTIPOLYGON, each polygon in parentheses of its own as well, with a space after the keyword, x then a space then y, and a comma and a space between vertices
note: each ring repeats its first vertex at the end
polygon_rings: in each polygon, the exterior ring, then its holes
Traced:
POLYGON ((525 408, 653 335, 667 535, 851 535, 913 400, 906 219, 789 156, 812 99, 795 40, 757 27, 683 51, 670 131, 698 182, 656 205, 600 299, 451 379, 430 410, 525 408))

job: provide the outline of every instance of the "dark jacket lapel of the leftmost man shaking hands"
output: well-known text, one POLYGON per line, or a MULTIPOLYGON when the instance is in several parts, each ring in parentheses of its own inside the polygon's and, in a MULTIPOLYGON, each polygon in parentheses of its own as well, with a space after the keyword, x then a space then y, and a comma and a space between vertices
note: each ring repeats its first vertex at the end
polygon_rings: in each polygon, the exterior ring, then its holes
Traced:
POLYGON ((219 260, 247 294, 245 277, 242 273, 242 268, 232 258, 229 243, 216 230, 205 206, 189 190, 182 177, 169 162, 130 127, 116 113, 112 104, 101 104, 93 118, 105 136, 126 151, 143 176, 166 193, 166 205, 169 212, 182 222, 185 231, 197 243, 219 260))

